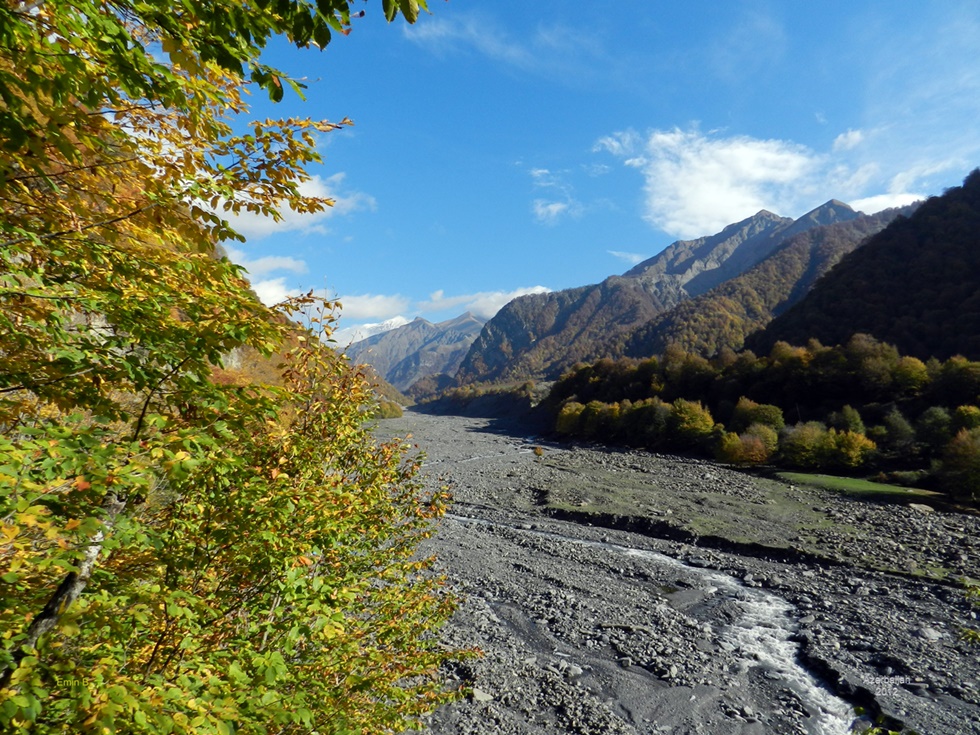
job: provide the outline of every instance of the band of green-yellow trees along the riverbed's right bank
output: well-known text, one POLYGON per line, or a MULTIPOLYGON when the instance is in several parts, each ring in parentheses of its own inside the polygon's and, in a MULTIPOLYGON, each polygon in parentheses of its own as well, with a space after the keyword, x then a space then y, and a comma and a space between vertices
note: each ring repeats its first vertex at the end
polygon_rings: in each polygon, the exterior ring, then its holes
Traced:
POLYGON ((546 405, 559 433, 739 464, 882 473, 980 498, 980 363, 923 362, 867 335, 708 360, 669 348, 576 366, 546 405))

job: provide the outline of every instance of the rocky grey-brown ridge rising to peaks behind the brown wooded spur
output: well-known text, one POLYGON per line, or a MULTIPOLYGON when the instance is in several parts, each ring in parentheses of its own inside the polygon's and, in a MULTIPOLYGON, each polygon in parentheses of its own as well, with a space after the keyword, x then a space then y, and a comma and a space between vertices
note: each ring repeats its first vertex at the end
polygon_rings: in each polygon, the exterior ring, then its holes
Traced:
POLYGON ((637 328, 744 273, 787 237, 858 216, 837 200, 797 220, 762 210, 715 235, 677 241, 622 276, 514 299, 484 326, 456 381, 555 378, 576 362, 622 355, 637 328))

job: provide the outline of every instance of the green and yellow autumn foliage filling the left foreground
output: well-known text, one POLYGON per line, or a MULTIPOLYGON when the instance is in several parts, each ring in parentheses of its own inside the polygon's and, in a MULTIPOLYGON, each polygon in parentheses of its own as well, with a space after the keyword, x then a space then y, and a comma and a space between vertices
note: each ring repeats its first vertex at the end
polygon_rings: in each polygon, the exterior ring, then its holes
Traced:
POLYGON ((246 83, 300 91, 265 43, 323 48, 349 5, 0 7, 4 731, 387 732, 444 696, 442 499, 366 430, 329 315, 215 250, 225 213, 329 206, 298 184, 338 124, 232 123, 246 83), (243 347, 278 385, 215 379, 243 347))

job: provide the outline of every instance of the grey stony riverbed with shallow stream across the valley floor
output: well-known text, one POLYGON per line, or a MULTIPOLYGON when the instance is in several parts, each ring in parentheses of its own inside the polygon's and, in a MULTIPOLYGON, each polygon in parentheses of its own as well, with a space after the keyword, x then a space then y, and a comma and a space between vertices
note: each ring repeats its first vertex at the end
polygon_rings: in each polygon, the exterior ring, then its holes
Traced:
POLYGON ((468 695, 431 735, 829 735, 868 724, 855 706, 980 734, 957 582, 980 577, 977 517, 482 419, 379 432, 410 433, 454 493, 426 548, 461 598, 442 639, 483 652, 447 671, 468 695))

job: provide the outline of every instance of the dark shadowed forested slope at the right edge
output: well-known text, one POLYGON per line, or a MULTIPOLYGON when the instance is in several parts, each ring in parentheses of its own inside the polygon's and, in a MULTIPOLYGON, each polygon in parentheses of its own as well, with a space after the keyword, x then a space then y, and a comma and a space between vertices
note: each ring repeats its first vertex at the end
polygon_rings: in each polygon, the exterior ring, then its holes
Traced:
POLYGON ((746 345, 841 344, 856 332, 922 359, 980 357, 980 170, 843 258, 746 345))

